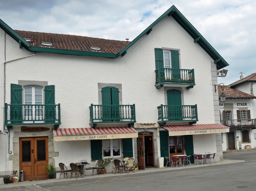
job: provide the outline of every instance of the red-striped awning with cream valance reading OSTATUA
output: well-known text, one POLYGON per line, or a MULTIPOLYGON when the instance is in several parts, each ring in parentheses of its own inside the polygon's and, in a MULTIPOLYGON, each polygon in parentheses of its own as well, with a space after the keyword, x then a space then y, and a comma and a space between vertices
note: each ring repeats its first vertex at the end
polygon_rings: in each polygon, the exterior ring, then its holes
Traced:
POLYGON ((170 136, 229 132, 228 127, 220 124, 163 125, 162 127, 169 131, 170 136))

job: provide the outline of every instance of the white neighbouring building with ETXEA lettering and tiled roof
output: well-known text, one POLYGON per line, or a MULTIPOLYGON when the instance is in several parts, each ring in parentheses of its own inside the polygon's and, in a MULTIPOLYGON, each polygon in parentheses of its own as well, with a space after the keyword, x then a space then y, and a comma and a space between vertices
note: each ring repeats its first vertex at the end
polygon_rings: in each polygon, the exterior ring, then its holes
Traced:
MULTIPOLYGON (((256 76, 256 73, 252 75, 256 76)), ((248 79, 248 77, 244 79, 248 79)), ((223 151, 244 149, 246 145, 255 148, 256 110, 254 108, 256 96, 246 93, 250 92, 250 89, 253 90, 251 85, 254 82, 244 79, 224 86, 223 92, 226 95, 226 101, 224 103, 219 101, 221 124, 230 128, 228 133, 222 133, 223 151), (248 83, 250 83, 249 86, 248 83)), ((222 88, 223 86, 218 87, 219 96, 222 93, 222 88)))

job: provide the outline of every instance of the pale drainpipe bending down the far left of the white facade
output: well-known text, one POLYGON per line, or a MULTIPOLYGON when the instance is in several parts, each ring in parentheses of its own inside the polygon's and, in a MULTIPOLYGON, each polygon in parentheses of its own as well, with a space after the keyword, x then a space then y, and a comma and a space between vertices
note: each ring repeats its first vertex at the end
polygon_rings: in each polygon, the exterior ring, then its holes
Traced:
MULTIPOLYGON (((20 59, 23 59, 23 58, 27 58, 27 57, 32 57, 34 56, 34 54, 31 54, 31 55, 28 55, 28 56, 23 56, 23 57, 20 57, 20 58, 15 58, 15 59, 12 59, 12 60, 8 60, 8 61, 4 61, 4 63, 2 63, 2 108, 4 109, 5 108, 5 65, 6 63, 10 63, 12 61, 15 61, 15 60, 20 60, 20 59)), ((4 112, 5 113, 5 112, 4 112)), ((2 133, 6 136, 6 174, 8 174, 8 161, 9 161, 9 149, 8 149, 8 134, 5 132, 5 114, 3 114, 2 116, 2 133)))

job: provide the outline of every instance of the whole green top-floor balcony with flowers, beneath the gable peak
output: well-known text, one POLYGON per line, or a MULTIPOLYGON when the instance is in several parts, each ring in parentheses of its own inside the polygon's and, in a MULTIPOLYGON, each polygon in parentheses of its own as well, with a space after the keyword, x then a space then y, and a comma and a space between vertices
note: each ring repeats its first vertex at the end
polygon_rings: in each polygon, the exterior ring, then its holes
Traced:
POLYGON ((195 84, 194 69, 158 68, 155 70, 155 87, 186 87, 193 88, 195 84))

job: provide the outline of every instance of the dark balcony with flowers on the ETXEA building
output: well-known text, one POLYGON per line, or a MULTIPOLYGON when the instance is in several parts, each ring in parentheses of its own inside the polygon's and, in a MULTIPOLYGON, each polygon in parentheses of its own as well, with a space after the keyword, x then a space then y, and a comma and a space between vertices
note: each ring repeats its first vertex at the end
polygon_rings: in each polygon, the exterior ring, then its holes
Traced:
POLYGON ((221 125, 233 128, 256 128, 256 119, 231 119, 221 120, 221 125))

